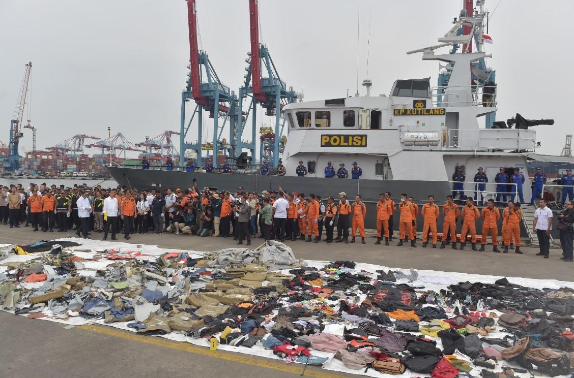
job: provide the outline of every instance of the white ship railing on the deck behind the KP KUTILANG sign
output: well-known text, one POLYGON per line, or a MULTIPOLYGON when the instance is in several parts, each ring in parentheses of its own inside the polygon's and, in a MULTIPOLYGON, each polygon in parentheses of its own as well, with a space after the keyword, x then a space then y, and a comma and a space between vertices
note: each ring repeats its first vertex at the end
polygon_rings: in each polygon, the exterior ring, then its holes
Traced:
POLYGON ((445 149, 458 151, 516 150, 532 152, 536 131, 529 129, 448 129, 445 149))

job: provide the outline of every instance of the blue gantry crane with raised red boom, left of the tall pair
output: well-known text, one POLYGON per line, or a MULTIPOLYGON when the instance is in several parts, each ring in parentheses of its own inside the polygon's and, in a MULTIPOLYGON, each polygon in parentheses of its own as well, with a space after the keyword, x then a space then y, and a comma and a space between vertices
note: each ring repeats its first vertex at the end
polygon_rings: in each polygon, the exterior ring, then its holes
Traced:
POLYGON ((203 111, 207 111, 210 118, 214 119, 213 127, 213 156, 214 165, 217 165, 217 156, 220 149, 225 149, 235 154, 236 143, 232 138, 238 123, 238 100, 235 92, 224 85, 215 72, 207 54, 199 50, 197 46, 197 11, 195 0, 187 0, 187 14, 189 21, 189 70, 186 88, 181 93, 181 139, 180 139, 180 164, 184 162, 186 149, 192 149, 197 153, 197 165, 202 164, 201 152, 203 144, 203 111), (185 108, 189 100, 195 101, 195 109, 186 124, 185 108), (195 119, 195 116, 197 118, 195 119), (193 120, 197 125, 197 141, 187 143, 185 137, 193 120), (223 123, 220 124, 220 119, 223 123), (221 135, 227 121, 230 123, 230 144, 223 144, 221 135))

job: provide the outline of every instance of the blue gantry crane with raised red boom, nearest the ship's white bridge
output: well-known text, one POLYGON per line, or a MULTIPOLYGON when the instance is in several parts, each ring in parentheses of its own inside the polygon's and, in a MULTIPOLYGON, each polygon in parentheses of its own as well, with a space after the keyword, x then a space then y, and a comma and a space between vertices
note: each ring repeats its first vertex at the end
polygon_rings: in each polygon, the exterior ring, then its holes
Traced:
POLYGON ((282 135, 285 120, 281 121, 281 109, 284 105, 296 101, 297 93, 294 92, 292 87, 287 88, 285 82, 281 80, 267 46, 259 44, 259 9, 257 0, 249 0, 249 25, 251 51, 246 60, 249 66, 246 68, 245 82, 239 88, 239 113, 243 114, 243 99, 251 97, 251 103, 247 109, 245 119, 242 119, 238 125, 236 151, 241 153, 241 149, 245 147, 250 149, 251 156, 255 155, 255 112, 257 104, 261 104, 266 109, 265 114, 267 116, 275 116, 275 127, 272 133, 262 132, 264 135, 261 140, 259 160, 260 163, 262 160, 270 160, 268 163, 274 167, 279 162, 280 146, 284 141, 282 135), (266 77, 263 77, 263 71, 265 71, 266 77), (253 144, 246 145, 243 144, 241 135, 247 124, 249 113, 251 113, 253 144))

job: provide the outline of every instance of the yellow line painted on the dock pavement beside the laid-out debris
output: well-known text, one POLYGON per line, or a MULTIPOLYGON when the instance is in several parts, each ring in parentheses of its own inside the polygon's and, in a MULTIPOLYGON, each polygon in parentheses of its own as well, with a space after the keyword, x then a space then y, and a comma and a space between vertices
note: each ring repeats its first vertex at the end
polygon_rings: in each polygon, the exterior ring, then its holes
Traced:
MULTIPOLYGON (((210 351, 209 348, 197 347, 197 345, 189 344, 189 342, 179 342, 167 340, 162 337, 144 336, 141 334, 136 334, 133 332, 126 332, 121 329, 111 328, 108 326, 96 325, 96 324, 84 324, 77 326, 76 328, 87 330, 90 332, 96 332, 100 334, 105 334, 107 336, 119 337, 124 340, 142 342, 144 344, 155 345, 156 347, 164 347, 170 349, 176 349, 177 351, 193 353, 194 355, 201 355, 212 357, 214 359, 231 361, 233 363, 239 363, 244 365, 256 366, 259 368, 272 369, 276 371, 293 373, 301 375, 305 365, 302 364, 286 364, 269 359, 257 359, 241 353, 233 353, 227 351, 210 351)), ((332 372, 324 372, 313 366, 308 365, 305 369, 306 377, 316 377, 316 378, 338 378, 346 377, 344 375, 338 375, 332 372)))

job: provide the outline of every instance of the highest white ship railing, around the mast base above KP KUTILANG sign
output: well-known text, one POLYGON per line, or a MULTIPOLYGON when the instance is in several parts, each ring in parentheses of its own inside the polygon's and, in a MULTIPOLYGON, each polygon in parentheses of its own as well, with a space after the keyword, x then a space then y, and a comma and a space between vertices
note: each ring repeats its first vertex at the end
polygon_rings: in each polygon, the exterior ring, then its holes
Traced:
POLYGON ((435 107, 487 107, 497 106, 495 85, 433 86, 430 92, 435 107))

